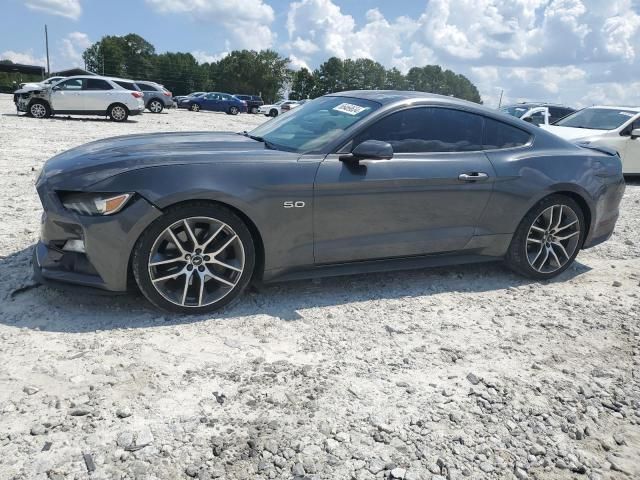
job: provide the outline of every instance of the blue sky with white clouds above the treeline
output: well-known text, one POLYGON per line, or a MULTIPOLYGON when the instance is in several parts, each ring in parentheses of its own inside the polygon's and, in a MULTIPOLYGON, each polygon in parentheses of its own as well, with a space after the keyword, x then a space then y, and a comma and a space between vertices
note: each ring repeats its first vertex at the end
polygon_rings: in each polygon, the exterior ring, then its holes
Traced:
POLYGON ((292 68, 366 57, 466 75, 485 104, 640 105, 640 0, 3 0, 0 59, 83 66, 103 35, 137 33, 199 61, 272 48, 292 68))

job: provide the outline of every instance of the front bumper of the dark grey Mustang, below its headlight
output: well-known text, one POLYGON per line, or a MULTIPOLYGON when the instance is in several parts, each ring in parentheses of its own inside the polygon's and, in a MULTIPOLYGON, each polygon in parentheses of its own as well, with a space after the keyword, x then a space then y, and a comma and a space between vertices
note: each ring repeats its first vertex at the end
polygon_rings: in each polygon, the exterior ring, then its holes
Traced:
POLYGON ((114 215, 78 215, 66 210, 58 195, 46 186, 38 186, 38 194, 44 213, 34 251, 34 277, 111 292, 127 291, 133 247, 162 212, 136 195, 114 215), (84 241, 85 252, 63 250, 67 240, 84 241))

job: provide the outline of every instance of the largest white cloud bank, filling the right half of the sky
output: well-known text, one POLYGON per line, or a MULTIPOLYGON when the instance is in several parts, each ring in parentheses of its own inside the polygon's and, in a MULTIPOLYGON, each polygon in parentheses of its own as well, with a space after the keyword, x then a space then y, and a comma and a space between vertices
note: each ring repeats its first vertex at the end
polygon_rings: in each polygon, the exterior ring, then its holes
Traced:
POLYGON ((337 2, 290 4, 283 48, 294 64, 329 56, 403 72, 439 64, 467 75, 490 105, 502 90, 504 101, 640 103, 637 0, 429 0, 416 18, 372 9, 362 21, 337 2))

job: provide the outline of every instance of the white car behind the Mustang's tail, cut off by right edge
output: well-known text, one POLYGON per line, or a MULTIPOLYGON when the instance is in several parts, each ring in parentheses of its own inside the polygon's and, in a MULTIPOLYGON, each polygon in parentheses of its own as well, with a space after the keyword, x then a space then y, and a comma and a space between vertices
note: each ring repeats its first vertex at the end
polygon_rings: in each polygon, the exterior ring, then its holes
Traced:
POLYGON ((625 174, 640 175, 640 107, 589 107, 544 128, 581 145, 612 148, 625 174))

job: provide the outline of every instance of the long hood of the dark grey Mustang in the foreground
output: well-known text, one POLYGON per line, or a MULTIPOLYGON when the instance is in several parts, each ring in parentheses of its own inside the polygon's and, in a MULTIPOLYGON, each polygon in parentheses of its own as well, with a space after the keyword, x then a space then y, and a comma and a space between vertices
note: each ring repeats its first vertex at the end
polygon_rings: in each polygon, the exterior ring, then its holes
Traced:
POLYGON ((269 150, 233 132, 175 132, 107 138, 49 159, 38 177, 54 189, 76 190, 120 173, 163 165, 297 161, 299 155, 269 150))

